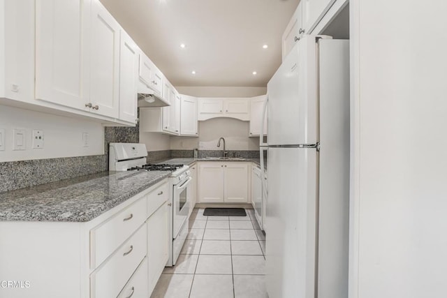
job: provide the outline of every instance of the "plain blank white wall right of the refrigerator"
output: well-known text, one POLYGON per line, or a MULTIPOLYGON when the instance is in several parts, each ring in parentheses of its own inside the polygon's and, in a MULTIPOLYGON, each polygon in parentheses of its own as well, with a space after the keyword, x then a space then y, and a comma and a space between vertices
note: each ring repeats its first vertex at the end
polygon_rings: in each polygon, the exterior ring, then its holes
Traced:
POLYGON ((447 297, 447 2, 350 10, 349 297, 447 297))

